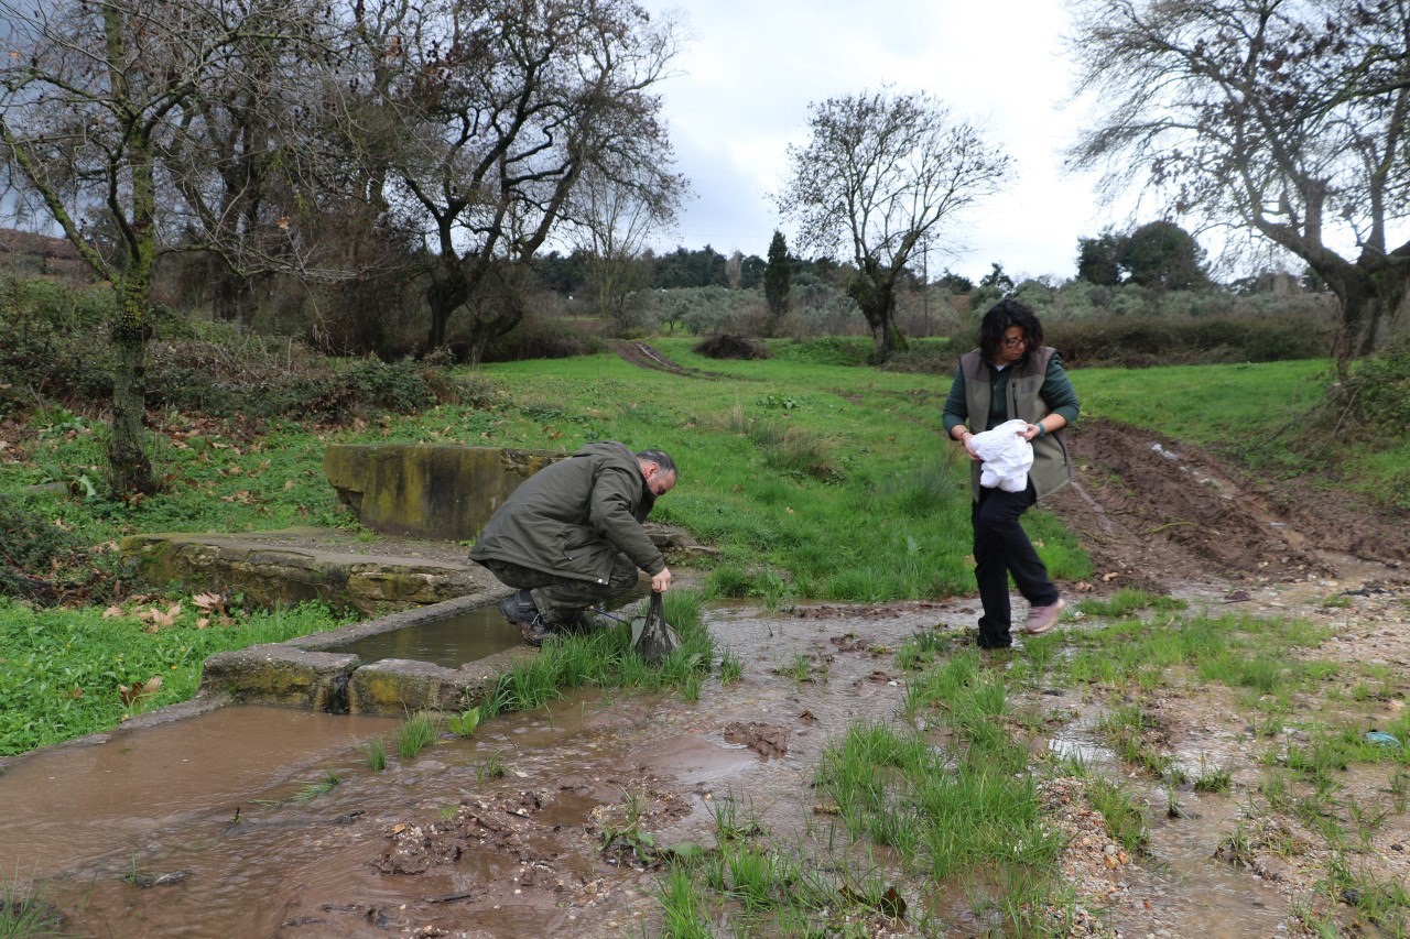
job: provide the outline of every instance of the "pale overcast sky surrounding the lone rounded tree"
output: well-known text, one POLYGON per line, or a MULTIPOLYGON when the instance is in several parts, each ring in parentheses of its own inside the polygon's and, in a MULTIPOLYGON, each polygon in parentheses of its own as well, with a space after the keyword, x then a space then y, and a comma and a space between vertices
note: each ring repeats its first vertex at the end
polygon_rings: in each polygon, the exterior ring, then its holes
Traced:
MULTIPOLYGON (((808 141, 808 104, 877 90, 929 92, 1014 158, 1003 195, 949 231, 959 257, 932 257, 973 279, 998 261, 1021 275, 1076 274, 1077 237, 1127 217, 1103 211, 1093 179, 1067 176, 1062 151, 1080 109, 1065 109, 1072 69, 1062 0, 639 0, 677 11, 687 44, 658 86, 678 169, 695 199, 657 240, 764 257, 781 226, 768 193, 787 175, 787 148, 808 141)), ((1148 219, 1142 219, 1146 221, 1148 219)))

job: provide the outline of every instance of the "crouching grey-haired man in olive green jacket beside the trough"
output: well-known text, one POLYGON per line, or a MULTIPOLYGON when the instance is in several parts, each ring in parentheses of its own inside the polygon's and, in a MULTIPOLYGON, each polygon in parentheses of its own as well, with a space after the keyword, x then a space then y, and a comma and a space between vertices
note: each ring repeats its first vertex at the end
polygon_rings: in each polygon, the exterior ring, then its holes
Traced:
POLYGON ((585 609, 636 584, 671 587, 666 558, 642 523, 675 485, 675 462, 660 450, 632 453, 591 443, 529 477, 475 540, 470 560, 516 592, 499 612, 540 646, 553 633, 585 629, 585 609))

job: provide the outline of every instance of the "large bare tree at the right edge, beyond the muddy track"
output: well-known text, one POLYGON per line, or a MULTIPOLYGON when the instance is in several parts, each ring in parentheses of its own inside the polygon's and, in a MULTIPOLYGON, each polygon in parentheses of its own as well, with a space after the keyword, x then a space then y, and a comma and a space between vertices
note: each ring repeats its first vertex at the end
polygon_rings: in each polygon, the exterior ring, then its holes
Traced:
POLYGON ((1410 3, 1087 0, 1073 37, 1103 110, 1072 164, 1301 258, 1341 302, 1342 365, 1410 288, 1410 3))

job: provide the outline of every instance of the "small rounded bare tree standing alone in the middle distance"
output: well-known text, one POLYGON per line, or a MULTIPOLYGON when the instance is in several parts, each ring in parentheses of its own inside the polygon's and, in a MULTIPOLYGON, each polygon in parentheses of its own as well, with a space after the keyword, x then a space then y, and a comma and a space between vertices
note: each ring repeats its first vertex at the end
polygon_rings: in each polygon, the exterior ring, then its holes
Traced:
POLYGON ((798 221, 801 247, 850 250, 847 295, 885 361, 905 348, 895 323, 905 265, 922 244, 940 244, 957 213, 997 192, 1011 161, 928 94, 883 90, 809 110, 812 140, 788 148, 791 175, 777 203, 798 221))

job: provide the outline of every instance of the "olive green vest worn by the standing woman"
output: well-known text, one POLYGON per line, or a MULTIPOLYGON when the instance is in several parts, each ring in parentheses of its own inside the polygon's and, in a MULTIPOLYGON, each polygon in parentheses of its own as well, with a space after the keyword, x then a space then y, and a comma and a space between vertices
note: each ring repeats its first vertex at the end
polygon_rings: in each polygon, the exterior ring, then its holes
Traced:
MULTIPOLYGON (((1010 365, 1014 371, 1008 376, 1004 420, 1019 417, 1036 424, 1043 419, 1048 405, 1038 392, 1042 391, 1052 357, 1053 348, 1043 345, 1034 350, 1022 362, 1010 365)), ((964 406, 969 410, 970 430, 988 430, 991 396, 988 362, 977 348, 960 357, 960 374, 964 375, 964 406)), ((970 472, 970 489, 976 499, 979 499, 979 474, 980 464, 976 462, 970 472)), ((1034 440, 1034 468, 1028 471, 1028 478, 1032 479, 1039 499, 1072 482, 1072 465, 1067 461, 1067 441, 1063 431, 1058 430, 1034 440)))

